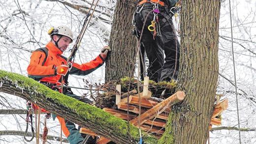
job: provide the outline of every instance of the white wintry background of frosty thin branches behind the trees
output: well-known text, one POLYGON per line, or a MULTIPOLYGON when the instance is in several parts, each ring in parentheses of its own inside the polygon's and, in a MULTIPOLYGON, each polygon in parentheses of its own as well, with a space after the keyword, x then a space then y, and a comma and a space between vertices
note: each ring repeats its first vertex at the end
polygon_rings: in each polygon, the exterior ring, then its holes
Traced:
MULTIPOLYGON (((74 37, 82 28, 85 12, 93 0, 0 0, 0 69, 27 76, 31 52, 50 40, 48 29, 68 26, 74 37), (79 9, 75 6, 82 5, 79 9), (22 10, 22 13, 20 12, 22 10)), ((94 59, 108 44, 116 0, 100 0, 82 40, 75 61, 94 59)), ((241 128, 256 129, 256 0, 232 0, 235 68, 238 87, 238 110, 241 128)), ((178 21, 174 20, 176 28, 178 21)), ((228 0, 222 0, 219 30, 218 94, 228 98, 222 126, 238 127, 228 0)), ((70 45, 70 49, 72 48, 70 45)), ((68 57, 70 52, 64 55, 68 57)), ((83 87, 83 79, 104 83, 104 66, 87 76, 70 76, 70 86, 83 87)), ((77 95, 87 91, 75 90, 77 95)), ((26 109, 26 101, 0 92, 0 109, 26 109)), ((25 131, 26 115, 0 115, 0 131, 25 131)), ((43 128, 43 120, 41 121, 43 128)), ((59 121, 48 120, 48 135, 60 136, 59 121)), ((256 131, 241 132, 242 144, 256 144, 256 131)), ((57 144, 56 141, 48 141, 57 144)), ((35 143, 35 139, 31 142, 35 143)), ((210 132, 210 144, 238 144, 236 130, 210 132)), ((29 144, 22 136, 0 136, 0 144, 29 144)))

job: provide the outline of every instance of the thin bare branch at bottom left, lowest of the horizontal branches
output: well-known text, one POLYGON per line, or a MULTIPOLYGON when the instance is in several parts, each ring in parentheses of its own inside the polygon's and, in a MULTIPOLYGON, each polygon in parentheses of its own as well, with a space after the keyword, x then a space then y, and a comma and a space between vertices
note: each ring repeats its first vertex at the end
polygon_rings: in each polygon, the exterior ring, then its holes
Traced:
MULTIPOLYGON (((0 131, 0 136, 24 136, 25 132, 23 131, 0 131)), ((27 132, 27 137, 32 137, 32 132, 27 132)), ((40 138, 42 138, 42 134, 40 134, 40 138)), ((53 140, 53 141, 61 141, 60 137, 55 136, 47 136, 47 140, 53 140)), ((62 140, 64 143, 68 143, 67 139, 62 140)))

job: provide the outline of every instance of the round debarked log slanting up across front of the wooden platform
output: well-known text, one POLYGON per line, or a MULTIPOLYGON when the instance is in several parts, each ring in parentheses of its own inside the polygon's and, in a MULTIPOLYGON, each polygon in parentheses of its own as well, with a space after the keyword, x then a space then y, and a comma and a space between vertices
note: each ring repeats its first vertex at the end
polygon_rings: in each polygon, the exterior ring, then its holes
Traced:
POLYGON ((177 91, 164 101, 160 102, 158 105, 154 106, 147 112, 141 114, 140 116, 137 116, 136 118, 130 120, 130 123, 133 123, 133 125, 138 126, 139 124, 143 124, 145 121, 155 117, 157 115, 156 112, 163 112, 164 108, 169 107, 170 105, 176 104, 180 101, 182 101, 185 98, 185 93, 183 91, 177 91), (140 118, 140 123, 139 123, 140 118))

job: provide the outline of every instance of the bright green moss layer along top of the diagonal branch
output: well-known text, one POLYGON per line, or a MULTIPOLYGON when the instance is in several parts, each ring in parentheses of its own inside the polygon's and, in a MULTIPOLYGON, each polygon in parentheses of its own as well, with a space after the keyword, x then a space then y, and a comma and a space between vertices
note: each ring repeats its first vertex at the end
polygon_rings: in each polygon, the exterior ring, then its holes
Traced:
MULTIPOLYGON (((44 96, 47 100, 51 100, 54 103, 64 106, 67 112, 72 111, 82 117, 84 121, 95 122, 95 124, 103 125, 108 127, 111 132, 116 135, 128 137, 131 136, 132 139, 139 140, 139 130, 133 125, 129 125, 125 120, 117 118, 110 115, 99 108, 93 107, 89 104, 78 101, 74 98, 66 96, 62 93, 54 91, 47 86, 39 84, 31 78, 27 78, 20 74, 10 73, 0 70, 0 82, 6 83, 11 82, 12 85, 16 86, 17 89, 26 89, 30 93, 37 93, 44 96)), ((33 98, 32 101, 38 101, 38 98, 33 98)), ((46 109, 47 110, 47 109, 46 109)), ((55 112, 53 112, 55 113, 55 112)), ((145 135, 144 141, 146 144, 156 144, 157 139, 150 135, 145 135)))

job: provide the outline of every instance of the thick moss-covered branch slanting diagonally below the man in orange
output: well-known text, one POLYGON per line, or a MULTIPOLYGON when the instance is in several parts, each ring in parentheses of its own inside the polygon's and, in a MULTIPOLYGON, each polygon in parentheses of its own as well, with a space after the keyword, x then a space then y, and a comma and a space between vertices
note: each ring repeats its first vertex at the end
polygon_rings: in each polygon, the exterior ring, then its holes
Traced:
MULTIPOLYGON (((32 101, 39 107, 61 115, 117 144, 134 144, 139 141, 139 130, 131 124, 128 130, 128 124, 123 119, 51 90, 22 75, 0 70, 0 91, 32 101)), ((157 142, 148 134, 145 135, 144 141, 147 144, 157 142)))

